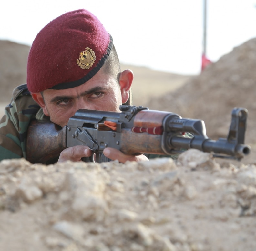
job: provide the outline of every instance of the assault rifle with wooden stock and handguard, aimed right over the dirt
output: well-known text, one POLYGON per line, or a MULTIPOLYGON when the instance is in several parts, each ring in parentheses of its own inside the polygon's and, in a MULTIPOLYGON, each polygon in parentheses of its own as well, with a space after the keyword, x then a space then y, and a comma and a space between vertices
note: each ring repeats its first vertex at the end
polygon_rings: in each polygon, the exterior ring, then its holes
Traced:
MULTIPOLYGON (((80 109, 63 128, 33 121, 27 133, 27 160, 50 163, 65 148, 75 145, 89 146, 99 163, 108 161, 103 155, 106 147, 131 155, 172 155, 195 148, 215 157, 237 160, 250 153, 250 146, 244 144, 248 116, 244 108, 233 109, 228 136, 217 141, 208 138, 204 121, 199 119, 141 106, 121 105, 120 110, 119 113, 80 109)), ((93 161, 93 156, 87 161, 93 161)))

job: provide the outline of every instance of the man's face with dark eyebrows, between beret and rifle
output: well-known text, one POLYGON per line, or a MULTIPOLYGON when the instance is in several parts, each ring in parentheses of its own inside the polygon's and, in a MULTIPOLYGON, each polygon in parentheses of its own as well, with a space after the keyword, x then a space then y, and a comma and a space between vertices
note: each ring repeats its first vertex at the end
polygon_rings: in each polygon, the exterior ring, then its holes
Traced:
MULTIPOLYGON (((44 114, 59 126, 67 125, 79 109, 120 112, 122 87, 116 79, 101 70, 86 83, 69 89, 43 91, 40 106, 44 114)), ((41 95, 41 94, 36 94, 41 95)), ((34 96, 33 96, 34 97, 34 96)), ((38 102, 38 101, 37 101, 38 102)))

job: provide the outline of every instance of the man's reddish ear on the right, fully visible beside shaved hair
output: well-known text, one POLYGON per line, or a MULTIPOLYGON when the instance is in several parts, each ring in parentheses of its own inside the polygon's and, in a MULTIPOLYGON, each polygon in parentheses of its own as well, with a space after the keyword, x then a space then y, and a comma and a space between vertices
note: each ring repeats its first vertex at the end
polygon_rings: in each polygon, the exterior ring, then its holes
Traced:
POLYGON ((131 84, 133 81, 133 72, 129 69, 124 70, 120 73, 120 89, 121 89, 121 95, 122 95, 122 103, 126 103, 129 98, 129 90, 131 88, 131 84))

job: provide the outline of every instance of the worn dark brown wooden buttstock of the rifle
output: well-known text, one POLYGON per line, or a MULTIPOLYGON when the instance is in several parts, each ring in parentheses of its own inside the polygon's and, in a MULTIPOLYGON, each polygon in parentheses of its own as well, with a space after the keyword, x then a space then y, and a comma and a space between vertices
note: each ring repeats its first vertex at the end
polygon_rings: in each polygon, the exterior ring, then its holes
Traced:
POLYGON ((31 163, 53 163, 66 148, 67 126, 32 121, 28 131, 26 159, 31 163))

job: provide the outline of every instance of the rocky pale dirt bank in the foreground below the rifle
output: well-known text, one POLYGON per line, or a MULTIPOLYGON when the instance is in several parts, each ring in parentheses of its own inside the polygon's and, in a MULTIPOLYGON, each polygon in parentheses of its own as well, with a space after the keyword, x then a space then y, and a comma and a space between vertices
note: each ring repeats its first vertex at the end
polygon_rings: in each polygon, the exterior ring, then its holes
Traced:
POLYGON ((2 161, 1 250, 255 250, 256 166, 2 161))

